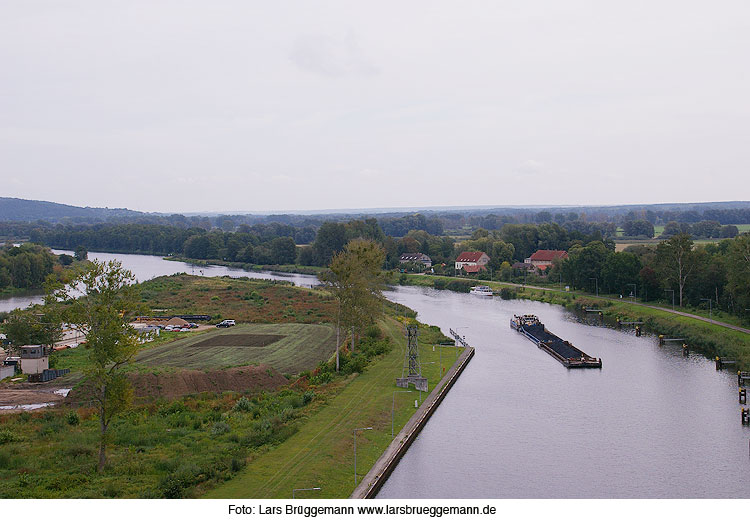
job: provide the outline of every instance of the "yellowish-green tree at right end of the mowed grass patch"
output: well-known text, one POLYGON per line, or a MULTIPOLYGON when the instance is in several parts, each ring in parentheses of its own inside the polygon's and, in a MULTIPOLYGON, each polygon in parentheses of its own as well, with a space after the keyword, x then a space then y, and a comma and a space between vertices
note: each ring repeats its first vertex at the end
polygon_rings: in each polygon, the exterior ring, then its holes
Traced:
POLYGON ((362 328, 380 313, 385 278, 382 272, 385 252, 380 244, 372 240, 354 239, 347 243, 344 251, 334 254, 330 267, 321 273, 325 283, 338 300, 336 316, 336 370, 339 369, 340 327, 352 332, 362 328))

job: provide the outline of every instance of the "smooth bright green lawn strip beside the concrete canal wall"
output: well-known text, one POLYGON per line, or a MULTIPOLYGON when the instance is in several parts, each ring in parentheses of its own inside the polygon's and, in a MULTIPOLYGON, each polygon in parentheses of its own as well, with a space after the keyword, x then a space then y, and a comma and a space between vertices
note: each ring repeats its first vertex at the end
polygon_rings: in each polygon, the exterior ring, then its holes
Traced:
MULTIPOLYGON (((345 498, 354 490, 353 429, 364 430, 357 437, 357 471, 364 476, 391 442, 391 404, 396 377, 404 362, 403 326, 389 322, 388 335, 396 349, 371 364, 355 377, 320 411, 300 424, 298 432, 277 448, 254 459, 232 480, 209 492, 210 498, 291 498, 292 489, 321 487, 303 492, 301 498, 345 498)), ((427 335, 426 330, 423 330, 427 335)), ((429 340, 428 337, 423 337, 429 340)), ((432 345, 420 343, 423 373, 430 389, 441 377, 440 360, 447 370, 456 352, 443 348, 433 353, 432 345)), ((423 399, 426 394, 422 394, 423 399)), ((395 432, 414 413, 418 393, 396 394, 395 432)))

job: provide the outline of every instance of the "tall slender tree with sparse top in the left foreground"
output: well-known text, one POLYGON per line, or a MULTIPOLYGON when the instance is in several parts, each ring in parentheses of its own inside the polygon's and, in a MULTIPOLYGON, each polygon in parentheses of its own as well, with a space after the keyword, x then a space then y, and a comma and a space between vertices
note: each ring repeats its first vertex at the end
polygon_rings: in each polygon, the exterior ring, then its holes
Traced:
POLYGON ((88 363, 84 371, 99 411, 99 465, 106 463, 107 430, 113 418, 131 403, 133 387, 123 372, 136 353, 137 336, 128 324, 137 302, 132 272, 119 261, 94 261, 54 297, 62 305, 62 318, 86 337, 88 363), (77 298, 76 298, 77 297, 77 298))

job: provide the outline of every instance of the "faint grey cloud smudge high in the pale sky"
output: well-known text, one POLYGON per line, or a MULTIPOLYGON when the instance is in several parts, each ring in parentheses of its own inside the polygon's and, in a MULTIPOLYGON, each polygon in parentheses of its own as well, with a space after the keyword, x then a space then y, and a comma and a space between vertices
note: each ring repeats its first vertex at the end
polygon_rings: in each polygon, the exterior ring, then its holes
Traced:
POLYGON ((289 58, 299 68, 325 77, 370 76, 379 73, 349 32, 342 39, 326 35, 298 37, 289 58))

